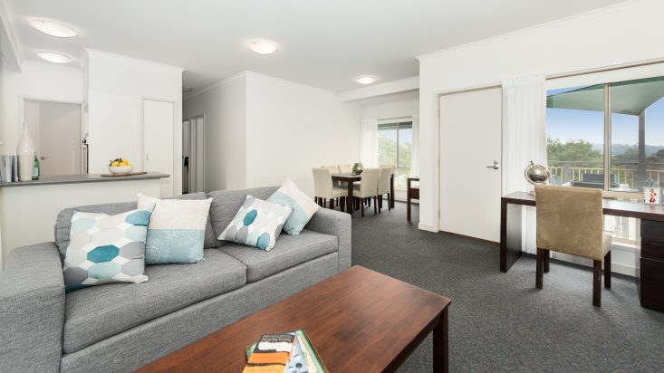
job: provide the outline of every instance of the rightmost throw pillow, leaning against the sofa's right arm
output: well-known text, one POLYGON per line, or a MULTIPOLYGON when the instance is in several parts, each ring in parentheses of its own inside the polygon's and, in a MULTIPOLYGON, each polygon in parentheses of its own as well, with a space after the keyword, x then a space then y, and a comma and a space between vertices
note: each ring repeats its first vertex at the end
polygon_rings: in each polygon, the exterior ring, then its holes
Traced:
POLYGON ((291 235, 300 234, 313 214, 321 208, 310 196, 301 192, 290 178, 286 178, 284 184, 267 201, 293 208, 293 214, 284 224, 284 231, 291 235))

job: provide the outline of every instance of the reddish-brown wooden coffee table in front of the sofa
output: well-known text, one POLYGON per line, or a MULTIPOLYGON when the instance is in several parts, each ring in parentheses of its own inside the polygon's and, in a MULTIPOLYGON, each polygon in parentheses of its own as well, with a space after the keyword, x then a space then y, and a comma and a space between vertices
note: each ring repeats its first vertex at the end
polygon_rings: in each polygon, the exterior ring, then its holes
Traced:
POLYGON ((331 372, 394 371, 433 331, 433 370, 447 372, 449 303, 356 265, 139 371, 241 372, 261 334, 303 329, 331 372))

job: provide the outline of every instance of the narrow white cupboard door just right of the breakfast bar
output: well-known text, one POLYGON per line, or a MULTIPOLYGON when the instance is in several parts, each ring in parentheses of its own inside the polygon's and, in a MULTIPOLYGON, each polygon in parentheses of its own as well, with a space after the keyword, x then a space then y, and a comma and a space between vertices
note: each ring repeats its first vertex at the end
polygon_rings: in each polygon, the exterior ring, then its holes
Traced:
POLYGON ((143 161, 145 171, 161 172, 161 197, 173 196, 173 102, 143 100, 143 161))

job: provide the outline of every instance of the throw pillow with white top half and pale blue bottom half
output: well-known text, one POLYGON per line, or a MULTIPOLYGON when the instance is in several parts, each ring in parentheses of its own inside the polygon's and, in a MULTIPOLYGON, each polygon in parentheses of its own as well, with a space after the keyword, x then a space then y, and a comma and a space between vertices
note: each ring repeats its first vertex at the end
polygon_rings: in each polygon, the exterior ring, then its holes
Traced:
POLYGON ((159 199, 139 193, 138 206, 155 205, 149 219, 146 264, 198 263, 212 198, 159 199))

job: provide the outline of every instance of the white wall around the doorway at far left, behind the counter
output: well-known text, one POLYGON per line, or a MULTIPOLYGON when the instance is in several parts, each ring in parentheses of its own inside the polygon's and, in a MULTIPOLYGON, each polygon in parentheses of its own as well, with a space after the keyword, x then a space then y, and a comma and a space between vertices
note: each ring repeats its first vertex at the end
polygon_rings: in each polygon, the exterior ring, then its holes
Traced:
POLYGON ((26 61, 22 71, 12 72, 3 65, 0 72, 0 153, 16 152, 24 120, 24 98, 76 103, 83 100, 80 68, 26 61))

